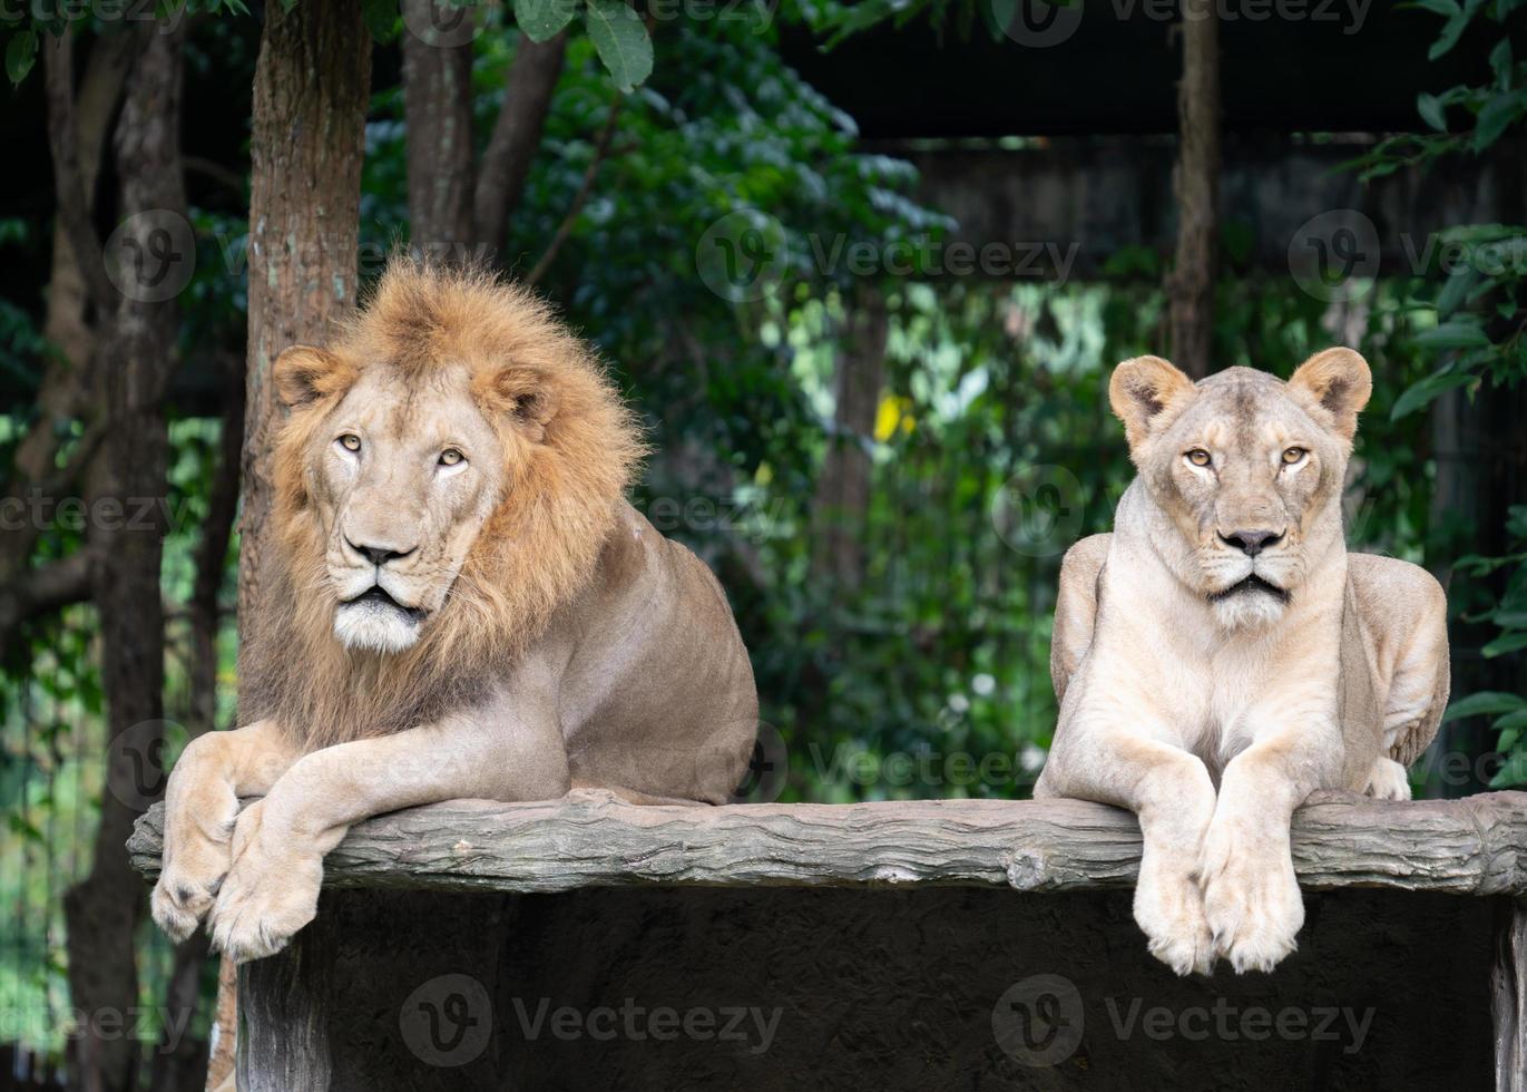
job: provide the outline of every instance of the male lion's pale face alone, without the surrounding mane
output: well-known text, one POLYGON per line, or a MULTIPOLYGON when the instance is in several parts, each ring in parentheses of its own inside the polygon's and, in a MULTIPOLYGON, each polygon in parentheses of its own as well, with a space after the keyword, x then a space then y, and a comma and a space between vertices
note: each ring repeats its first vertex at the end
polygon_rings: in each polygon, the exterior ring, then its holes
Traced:
POLYGON ((469 382, 466 368, 412 380, 366 368, 307 443, 347 648, 411 648, 502 496, 502 443, 469 382))

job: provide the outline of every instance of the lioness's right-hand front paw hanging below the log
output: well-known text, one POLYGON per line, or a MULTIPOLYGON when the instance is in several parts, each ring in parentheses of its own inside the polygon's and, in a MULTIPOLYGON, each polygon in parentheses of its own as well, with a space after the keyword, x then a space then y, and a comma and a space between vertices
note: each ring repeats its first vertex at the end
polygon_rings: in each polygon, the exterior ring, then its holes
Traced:
POLYGON ((1298 948, 1304 898, 1287 835, 1215 819, 1199 867, 1215 955, 1237 974, 1270 971, 1298 948))

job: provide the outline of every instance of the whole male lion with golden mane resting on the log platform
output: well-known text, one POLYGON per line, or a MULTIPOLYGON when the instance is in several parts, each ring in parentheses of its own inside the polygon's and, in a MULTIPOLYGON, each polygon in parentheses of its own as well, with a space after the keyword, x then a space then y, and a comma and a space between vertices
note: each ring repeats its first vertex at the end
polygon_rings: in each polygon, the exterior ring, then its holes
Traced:
POLYGON ((547 307, 395 261, 336 345, 272 377, 292 412, 246 620, 253 722, 169 777, 166 933, 208 918, 237 961, 278 951, 324 854, 394 808, 727 800, 757 727, 747 651, 710 571, 623 499, 635 425, 547 307))

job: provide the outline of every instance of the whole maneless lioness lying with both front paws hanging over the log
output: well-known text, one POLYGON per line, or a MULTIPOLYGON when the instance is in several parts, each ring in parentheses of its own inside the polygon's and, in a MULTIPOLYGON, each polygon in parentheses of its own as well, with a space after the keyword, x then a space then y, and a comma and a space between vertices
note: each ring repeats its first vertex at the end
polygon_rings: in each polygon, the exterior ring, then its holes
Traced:
POLYGON ((1441 588, 1342 539, 1371 389, 1347 348, 1287 383, 1193 383, 1154 356, 1109 383, 1139 475, 1113 535, 1061 565, 1060 722, 1034 794, 1139 816, 1135 919, 1179 974, 1293 951, 1293 809, 1316 788, 1409 799, 1405 767, 1448 704, 1441 588))

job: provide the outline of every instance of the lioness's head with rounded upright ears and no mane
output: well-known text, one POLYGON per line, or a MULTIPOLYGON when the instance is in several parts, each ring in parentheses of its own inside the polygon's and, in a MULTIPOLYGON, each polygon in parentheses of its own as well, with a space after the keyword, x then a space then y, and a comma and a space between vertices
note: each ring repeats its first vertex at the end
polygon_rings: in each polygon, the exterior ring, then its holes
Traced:
POLYGON ((1229 368, 1193 383, 1157 357, 1110 383, 1130 455, 1180 541, 1157 544, 1226 628, 1280 619, 1341 538, 1339 496, 1368 365, 1327 350, 1283 383, 1229 368))

